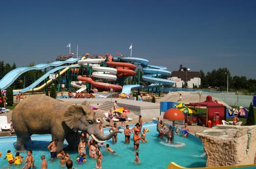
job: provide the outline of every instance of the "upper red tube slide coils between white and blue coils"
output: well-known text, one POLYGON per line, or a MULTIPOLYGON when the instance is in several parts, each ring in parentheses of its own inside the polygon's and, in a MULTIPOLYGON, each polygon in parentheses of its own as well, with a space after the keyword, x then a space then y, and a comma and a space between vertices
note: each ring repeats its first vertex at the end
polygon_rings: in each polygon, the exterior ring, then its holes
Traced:
POLYGON ((136 66, 131 63, 125 63, 125 62, 113 62, 112 55, 109 55, 109 61, 106 62, 106 65, 108 66, 115 66, 117 67, 117 73, 118 77, 124 76, 134 76, 136 75, 136 72, 134 71, 136 69, 136 66))

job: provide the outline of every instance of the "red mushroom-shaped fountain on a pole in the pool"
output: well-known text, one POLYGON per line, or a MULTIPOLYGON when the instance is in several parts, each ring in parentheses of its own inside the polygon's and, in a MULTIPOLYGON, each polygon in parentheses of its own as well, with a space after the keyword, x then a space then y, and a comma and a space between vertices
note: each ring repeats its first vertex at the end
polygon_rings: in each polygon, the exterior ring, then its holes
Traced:
POLYGON ((172 134, 172 143, 174 143, 174 132, 175 132, 175 120, 185 120, 184 114, 181 110, 177 109, 177 108, 170 108, 167 111, 165 111, 164 115, 163 115, 163 119, 169 120, 169 121, 173 121, 173 134, 172 134))

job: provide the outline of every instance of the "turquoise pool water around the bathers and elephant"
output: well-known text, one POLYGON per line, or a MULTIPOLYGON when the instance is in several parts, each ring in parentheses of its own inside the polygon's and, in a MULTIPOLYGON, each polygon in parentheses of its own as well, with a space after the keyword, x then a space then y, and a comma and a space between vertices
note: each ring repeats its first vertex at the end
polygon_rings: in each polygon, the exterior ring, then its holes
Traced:
MULTIPOLYGON (((133 126, 131 125, 130 128, 133 126)), ((165 139, 157 137, 156 124, 146 123, 143 127, 148 128, 150 132, 147 132, 146 138, 148 143, 140 143, 139 146, 139 158, 140 163, 136 164, 135 151, 133 150, 133 139, 131 137, 131 143, 129 145, 124 144, 124 134, 118 134, 117 144, 112 145, 112 139, 108 140, 104 144, 110 144, 110 147, 116 152, 115 155, 104 152, 105 148, 101 148, 103 155, 102 168, 166 168, 171 161, 184 167, 204 167, 206 163, 206 156, 201 142, 191 138, 183 138, 175 135, 175 144, 166 144, 165 139), (179 145, 179 147, 175 146, 179 145)), ((108 134, 108 130, 104 133, 108 134)), ((48 161, 48 168, 61 168, 59 159, 55 159, 54 162, 50 161, 50 153, 47 150, 47 146, 50 143, 51 135, 33 135, 33 144, 27 144, 27 150, 33 150, 33 156, 37 168, 40 168, 40 156, 46 155, 48 161)), ((7 150, 11 150, 13 156, 15 156, 16 137, 0 137, 0 152, 2 152, 2 159, 0 159, 0 168, 22 168, 25 163, 20 166, 9 164, 7 160, 4 160, 7 150)), ((67 144, 67 143, 66 143, 67 144)), ((96 168, 96 159, 89 157, 87 152, 87 161, 85 163, 77 163, 78 157, 77 151, 69 152, 71 159, 73 160, 73 167, 79 168, 96 168)), ((26 152, 20 153, 25 157, 26 152)))

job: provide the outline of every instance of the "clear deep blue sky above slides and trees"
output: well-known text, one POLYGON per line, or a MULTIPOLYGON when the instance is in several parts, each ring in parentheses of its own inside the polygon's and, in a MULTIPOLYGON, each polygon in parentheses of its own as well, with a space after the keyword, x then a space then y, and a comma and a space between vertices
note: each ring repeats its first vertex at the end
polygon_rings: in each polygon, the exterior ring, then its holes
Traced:
POLYGON ((227 67, 256 78, 256 1, 2 1, 0 60, 121 52, 178 70, 227 67))

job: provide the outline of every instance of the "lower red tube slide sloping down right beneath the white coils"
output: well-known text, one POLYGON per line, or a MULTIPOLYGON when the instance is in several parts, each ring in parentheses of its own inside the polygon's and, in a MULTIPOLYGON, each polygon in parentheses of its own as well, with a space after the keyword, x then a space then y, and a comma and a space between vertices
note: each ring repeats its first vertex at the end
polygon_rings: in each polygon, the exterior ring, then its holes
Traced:
POLYGON ((91 77, 78 76, 77 78, 80 81, 85 81, 85 82, 90 83, 91 85, 93 85, 96 88, 106 89, 106 90, 110 90, 112 88, 115 91, 122 90, 122 87, 119 86, 119 85, 113 85, 113 84, 109 84, 109 83, 103 83, 103 82, 99 82, 99 81, 94 81, 91 77))

